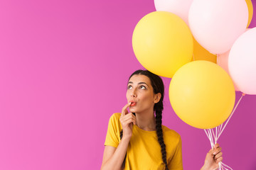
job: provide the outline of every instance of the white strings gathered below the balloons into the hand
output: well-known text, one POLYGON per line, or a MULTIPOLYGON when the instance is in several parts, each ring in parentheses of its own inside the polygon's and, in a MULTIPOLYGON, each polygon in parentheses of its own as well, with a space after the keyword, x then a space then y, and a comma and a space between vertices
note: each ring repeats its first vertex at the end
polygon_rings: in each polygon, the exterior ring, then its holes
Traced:
MULTIPOLYGON (((242 96, 245 96, 245 94, 242 94, 242 96)), ((206 135, 208 137, 208 139, 210 140, 210 146, 214 147, 214 145, 217 143, 218 138, 220 137, 221 133, 223 132, 223 130, 225 129, 226 125, 228 124, 228 121, 230 120, 230 118, 232 117, 233 113, 235 112, 235 109, 238 107, 238 104, 240 103, 242 96, 240 97, 238 103, 236 104, 235 108, 233 109, 232 113, 230 114, 228 120, 225 122, 225 125, 223 126, 223 124, 219 125, 218 127, 213 129, 204 129, 204 131, 206 132, 206 135)), ((217 168, 218 170, 233 170, 232 168, 230 168, 230 166, 224 164, 223 162, 219 162, 219 166, 217 168)))

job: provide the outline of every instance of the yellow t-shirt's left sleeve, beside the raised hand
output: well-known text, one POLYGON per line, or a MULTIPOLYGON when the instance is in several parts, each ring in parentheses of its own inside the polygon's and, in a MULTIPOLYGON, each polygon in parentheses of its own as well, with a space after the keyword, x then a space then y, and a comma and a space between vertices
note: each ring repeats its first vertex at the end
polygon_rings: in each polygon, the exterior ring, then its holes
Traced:
POLYGON ((120 113, 114 113, 109 120, 107 135, 105 140, 105 146, 109 145, 112 147, 117 147, 120 141, 120 131, 121 123, 120 123, 120 113))

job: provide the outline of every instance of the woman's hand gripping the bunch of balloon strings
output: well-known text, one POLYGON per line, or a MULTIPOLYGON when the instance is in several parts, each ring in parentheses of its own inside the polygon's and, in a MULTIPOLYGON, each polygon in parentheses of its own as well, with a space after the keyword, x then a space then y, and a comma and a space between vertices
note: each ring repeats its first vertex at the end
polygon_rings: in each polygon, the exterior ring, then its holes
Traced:
POLYGON ((223 161, 223 153, 221 152, 221 147, 215 144, 213 149, 206 154, 205 164, 201 170, 213 170, 218 169, 218 163, 223 161))

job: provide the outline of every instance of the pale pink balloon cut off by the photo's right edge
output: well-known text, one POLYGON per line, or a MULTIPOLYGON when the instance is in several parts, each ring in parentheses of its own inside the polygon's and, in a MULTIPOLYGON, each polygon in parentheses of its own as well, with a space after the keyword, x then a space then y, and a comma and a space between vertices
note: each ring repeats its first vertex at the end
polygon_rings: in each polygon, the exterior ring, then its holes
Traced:
POLYGON ((233 82, 245 94, 256 94, 256 28, 251 28, 235 41, 228 57, 228 70, 233 82))

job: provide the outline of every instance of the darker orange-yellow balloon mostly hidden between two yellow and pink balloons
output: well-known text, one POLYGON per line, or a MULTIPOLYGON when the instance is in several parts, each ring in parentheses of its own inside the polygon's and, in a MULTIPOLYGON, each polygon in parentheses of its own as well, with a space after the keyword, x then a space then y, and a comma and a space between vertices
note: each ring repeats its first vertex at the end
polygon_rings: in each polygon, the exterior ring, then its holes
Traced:
POLYGON ((217 55, 213 55, 202 47, 195 38, 193 38, 193 57, 191 61, 205 60, 208 62, 217 63, 217 55))

